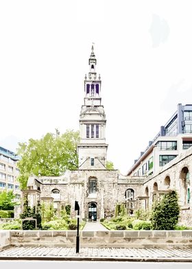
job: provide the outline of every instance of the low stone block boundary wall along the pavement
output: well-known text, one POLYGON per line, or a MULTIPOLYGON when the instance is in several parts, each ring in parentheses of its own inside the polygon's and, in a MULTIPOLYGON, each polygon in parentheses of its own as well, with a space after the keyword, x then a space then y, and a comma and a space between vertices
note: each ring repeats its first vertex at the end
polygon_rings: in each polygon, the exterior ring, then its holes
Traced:
MULTIPOLYGON (((66 246, 76 244, 76 231, 6 231, 14 246, 66 246)), ((1 239, 2 240, 2 239, 1 239)), ((2 245, 2 244, 1 244, 2 245)), ((80 247, 173 248, 191 247, 192 231, 80 231, 80 247)))

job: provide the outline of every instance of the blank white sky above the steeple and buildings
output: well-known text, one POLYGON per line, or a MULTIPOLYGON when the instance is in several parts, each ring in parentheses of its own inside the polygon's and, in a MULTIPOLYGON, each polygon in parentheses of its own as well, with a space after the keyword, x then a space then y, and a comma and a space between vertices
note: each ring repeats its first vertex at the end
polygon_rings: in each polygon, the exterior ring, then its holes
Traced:
POLYGON ((191 1, 0 1, 0 145, 79 129, 91 45, 122 174, 192 104, 191 1))

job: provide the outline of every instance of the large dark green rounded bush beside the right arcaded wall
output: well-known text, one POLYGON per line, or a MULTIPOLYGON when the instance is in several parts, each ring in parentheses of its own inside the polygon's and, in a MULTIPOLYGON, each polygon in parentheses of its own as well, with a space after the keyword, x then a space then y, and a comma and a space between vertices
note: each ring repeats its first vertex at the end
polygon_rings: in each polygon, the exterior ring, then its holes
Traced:
POLYGON ((174 230, 178 224, 180 207, 178 205, 178 194, 170 191, 163 198, 156 201, 152 208, 152 229, 174 230))

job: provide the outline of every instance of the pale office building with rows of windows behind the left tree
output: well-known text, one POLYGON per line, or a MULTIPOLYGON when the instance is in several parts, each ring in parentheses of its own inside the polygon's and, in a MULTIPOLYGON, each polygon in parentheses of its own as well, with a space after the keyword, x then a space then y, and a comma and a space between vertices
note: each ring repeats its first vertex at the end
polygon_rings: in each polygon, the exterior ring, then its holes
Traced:
POLYGON ((14 152, 0 147, 0 191, 12 190, 15 194, 15 200, 21 199, 19 182, 16 180, 19 175, 19 169, 16 166, 19 156, 14 152))

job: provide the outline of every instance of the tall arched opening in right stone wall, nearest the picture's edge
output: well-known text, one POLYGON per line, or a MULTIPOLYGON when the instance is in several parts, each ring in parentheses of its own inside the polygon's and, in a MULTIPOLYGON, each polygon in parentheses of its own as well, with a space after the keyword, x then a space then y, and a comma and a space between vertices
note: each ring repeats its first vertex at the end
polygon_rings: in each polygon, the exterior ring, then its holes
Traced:
POLYGON ((180 172, 181 179, 181 200, 184 204, 189 204, 190 202, 190 179, 189 179, 189 169, 183 167, 180 172))

